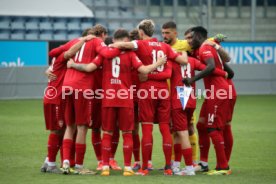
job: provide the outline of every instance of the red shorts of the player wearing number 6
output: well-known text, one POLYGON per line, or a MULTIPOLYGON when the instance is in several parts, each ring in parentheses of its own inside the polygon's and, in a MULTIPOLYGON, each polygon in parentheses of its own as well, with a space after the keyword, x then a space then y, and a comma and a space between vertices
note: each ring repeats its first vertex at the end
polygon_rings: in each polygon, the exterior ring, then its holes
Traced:
POLYGON ((134 110, 129 107, 103 107, 102 129, 114 131, 119 126, 122 131, 134 130, 134 110))

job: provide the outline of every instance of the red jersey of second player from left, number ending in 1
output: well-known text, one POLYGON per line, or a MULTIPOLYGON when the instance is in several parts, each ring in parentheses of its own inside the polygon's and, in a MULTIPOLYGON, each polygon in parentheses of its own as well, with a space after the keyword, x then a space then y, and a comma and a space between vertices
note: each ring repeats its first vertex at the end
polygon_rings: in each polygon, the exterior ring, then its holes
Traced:
MULTIPOLYGON (((107 53, 109 55, 112 52, 106 52, 110 50, 106 47, 105 43, 100 38, 94 38, 83 44, 80 51, 74 57, 75 63, 88 64, 93 61, 98 53, 107 53)), ((119 50, 112 49, 114 51, 114 56, 118 55, 119 50)), ((104 54, 105 55, 105 54, 104 54)), ((68 69, 63 86, 69 86, 73 89, 93 89, 94 75, 93 72, 86 73, 80 72, 75 69, 68 69)))

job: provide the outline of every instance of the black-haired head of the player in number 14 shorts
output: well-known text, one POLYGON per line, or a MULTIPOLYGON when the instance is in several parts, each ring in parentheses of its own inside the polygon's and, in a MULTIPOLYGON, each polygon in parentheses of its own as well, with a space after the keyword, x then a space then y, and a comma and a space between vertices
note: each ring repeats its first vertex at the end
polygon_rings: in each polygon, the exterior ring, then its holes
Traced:
POLYGON ((191 31, 192 31, 191 47, 192 49, 197 49, 207 39, 208 32, 202 26, 193 27, 191 31))

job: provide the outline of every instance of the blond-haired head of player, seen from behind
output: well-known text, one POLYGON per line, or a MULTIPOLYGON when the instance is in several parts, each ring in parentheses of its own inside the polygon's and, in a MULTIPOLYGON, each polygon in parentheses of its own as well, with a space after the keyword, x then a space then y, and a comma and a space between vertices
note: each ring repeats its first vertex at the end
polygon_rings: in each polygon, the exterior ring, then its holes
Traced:
POLYGON ((153 20, 144 19, 138 24, 137 28, 139 30, 140 38, 143 39, 145 36, 152 37, 155 25, 153 20))

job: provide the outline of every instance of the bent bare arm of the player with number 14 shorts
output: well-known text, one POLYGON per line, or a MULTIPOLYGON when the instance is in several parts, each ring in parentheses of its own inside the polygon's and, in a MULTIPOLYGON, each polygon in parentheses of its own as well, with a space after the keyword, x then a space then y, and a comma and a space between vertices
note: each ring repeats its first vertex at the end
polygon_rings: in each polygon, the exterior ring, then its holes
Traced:
POLYGON ((198 81, 198 80, 210 75, 216 68, 215 60, 213 57, 209 57, 205 60, 205 63, 206 63, 206 67, 204 70, 202 70, 201 72, 199 72, 192 78, 183 79, 183 83, 187 86, 190 86, 195 81, 198 81))

